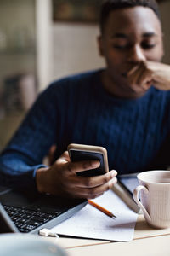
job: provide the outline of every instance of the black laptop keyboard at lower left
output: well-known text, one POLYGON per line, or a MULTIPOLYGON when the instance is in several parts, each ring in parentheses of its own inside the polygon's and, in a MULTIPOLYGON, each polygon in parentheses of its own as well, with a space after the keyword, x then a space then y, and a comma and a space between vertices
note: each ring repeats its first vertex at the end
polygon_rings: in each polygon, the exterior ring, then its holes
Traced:
POLYGON ((49 220, 56 218, 62 212, 57 212, 56 209, 43 209, 42 207, 28 206, 28 207, 12 207, 3 205, 8 216, 14 222, 15 226, 20 232, 31 232, 38 226, 45 224, 49 220))

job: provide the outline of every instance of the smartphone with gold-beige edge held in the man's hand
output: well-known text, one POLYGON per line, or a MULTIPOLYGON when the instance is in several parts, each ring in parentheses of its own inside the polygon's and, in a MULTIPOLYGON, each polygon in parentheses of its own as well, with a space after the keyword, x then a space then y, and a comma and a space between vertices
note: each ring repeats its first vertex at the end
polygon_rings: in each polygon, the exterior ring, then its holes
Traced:
POLYGON ((77 172, 78 176, 93 177, 109 172, 107 150, 99 146, 89 146, 82 144, 70 144, 68 152, 72 162, 82 160, 99 160, 100 166, 88 171, 77 172))

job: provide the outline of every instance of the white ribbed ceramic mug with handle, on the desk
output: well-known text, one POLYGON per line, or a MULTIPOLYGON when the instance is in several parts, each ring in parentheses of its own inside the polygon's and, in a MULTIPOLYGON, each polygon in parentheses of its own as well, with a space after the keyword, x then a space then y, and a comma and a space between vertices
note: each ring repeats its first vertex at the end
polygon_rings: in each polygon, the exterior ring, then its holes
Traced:
POLYGON ((137 177, 139 186, 134 189, 133 198, 144 212, 145 220, 155 228, 167 228, 170 226, 170 171, 141 172, 137 177))

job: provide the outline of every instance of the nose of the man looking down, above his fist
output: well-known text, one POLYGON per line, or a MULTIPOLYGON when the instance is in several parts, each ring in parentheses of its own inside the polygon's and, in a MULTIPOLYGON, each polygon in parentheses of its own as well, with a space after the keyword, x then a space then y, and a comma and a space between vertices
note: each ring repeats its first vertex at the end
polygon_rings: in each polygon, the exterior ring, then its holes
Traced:
POLYGON ((139 44, 134 44, 128 51, 127 61, 138 64, 140 61, 146 61, 144 52, 139 44))

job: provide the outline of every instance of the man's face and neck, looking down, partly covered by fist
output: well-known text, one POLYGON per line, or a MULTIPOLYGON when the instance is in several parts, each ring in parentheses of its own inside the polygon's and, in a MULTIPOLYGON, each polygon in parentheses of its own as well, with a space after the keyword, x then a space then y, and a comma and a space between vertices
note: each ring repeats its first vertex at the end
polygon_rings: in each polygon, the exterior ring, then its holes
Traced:
POLYGON ((161 24, 150 8, 117 9, 110 13, 99 37, 100 54, 105 57, 105 88, 125 97, 144 95, 134 90, 127 73, 141 61, 161 61, 163 55, 161 24))

